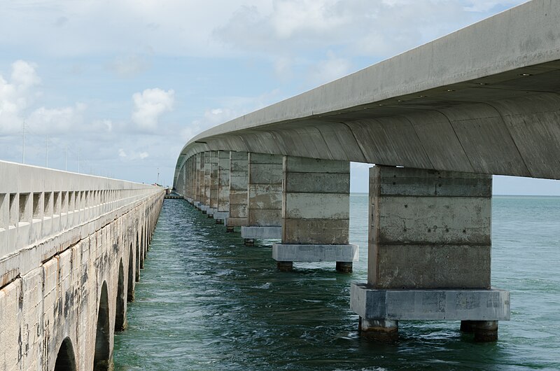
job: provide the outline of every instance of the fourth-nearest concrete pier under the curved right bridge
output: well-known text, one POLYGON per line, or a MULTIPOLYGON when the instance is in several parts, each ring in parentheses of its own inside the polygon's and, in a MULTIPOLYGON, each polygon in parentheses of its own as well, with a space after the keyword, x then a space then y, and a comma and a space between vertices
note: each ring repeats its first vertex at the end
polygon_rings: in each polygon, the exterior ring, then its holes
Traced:
POLYGON ((246 152, 230 152, 230 216, 226 220, 226 232, 247 225, 247 164, 246 152))

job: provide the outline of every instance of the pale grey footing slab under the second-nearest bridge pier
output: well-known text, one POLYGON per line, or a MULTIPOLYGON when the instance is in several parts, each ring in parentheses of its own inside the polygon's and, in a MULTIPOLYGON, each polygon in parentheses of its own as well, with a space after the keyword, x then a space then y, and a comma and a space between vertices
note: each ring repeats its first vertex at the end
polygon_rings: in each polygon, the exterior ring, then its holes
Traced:
MULTIPOLYGON (((337 262, 349 263, 358 261, 358 245, 318 245, 318 244, 273 244, 272 258, 287 262, 337 262)), ((342 267, 342 265, 341 265, 342 267)), ((344 267, 348 267, 347 264, 344 267)))

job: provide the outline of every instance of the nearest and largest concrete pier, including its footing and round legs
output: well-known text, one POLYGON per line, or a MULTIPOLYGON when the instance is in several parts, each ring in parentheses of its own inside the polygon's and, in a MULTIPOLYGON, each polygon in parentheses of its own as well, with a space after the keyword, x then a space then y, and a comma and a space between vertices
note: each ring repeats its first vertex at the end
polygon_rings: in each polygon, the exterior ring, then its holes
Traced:
POLYGON ((351 288, 363 334, 385 339, 384 321, 393 333, 396 321, 445 319, 476 341, 497 339, 510 295, 490 284, 491 186, 485 174, 370 169, 367 284, 351 288))

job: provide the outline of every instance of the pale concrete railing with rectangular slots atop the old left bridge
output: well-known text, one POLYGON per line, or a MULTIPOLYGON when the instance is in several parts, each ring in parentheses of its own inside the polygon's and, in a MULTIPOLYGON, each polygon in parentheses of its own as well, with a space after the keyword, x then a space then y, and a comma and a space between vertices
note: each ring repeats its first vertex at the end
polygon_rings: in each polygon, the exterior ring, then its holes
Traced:
POLYGON ((158 192, 162 188, 0 161, 0 263, 158 192))

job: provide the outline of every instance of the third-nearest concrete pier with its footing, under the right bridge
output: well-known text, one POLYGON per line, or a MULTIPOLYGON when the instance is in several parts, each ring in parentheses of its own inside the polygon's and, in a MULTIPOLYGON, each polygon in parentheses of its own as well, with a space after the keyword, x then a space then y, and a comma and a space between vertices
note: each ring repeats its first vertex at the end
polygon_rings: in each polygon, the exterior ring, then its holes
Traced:
POLYGON ((250 246, 255 239, 281 239, 283 156, 248 154, 248 226, 241 237, 250 246))

